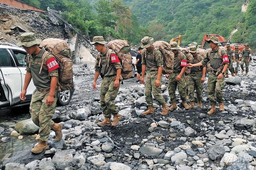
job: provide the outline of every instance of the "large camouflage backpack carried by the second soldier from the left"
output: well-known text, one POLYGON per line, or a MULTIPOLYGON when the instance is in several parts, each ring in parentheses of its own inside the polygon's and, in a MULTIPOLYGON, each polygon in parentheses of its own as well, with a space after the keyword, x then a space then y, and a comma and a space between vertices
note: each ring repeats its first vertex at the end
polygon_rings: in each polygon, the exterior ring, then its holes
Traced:
MULTIPOLYGON (((120 80, 129 79, 132 77, 132 55, 130 54, 130 46, 125 40, 110 41, 107 47, 113 50, 122 65, 120 80)), ((110 59, 110 55, 108 56, 110 59)), ((108 64, 109 64, 108 59, 108 64)))

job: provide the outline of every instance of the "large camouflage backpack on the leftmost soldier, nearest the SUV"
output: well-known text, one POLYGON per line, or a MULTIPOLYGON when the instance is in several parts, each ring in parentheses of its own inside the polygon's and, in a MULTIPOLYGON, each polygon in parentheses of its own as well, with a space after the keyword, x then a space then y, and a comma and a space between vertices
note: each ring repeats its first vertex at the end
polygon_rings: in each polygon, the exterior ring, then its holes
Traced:
MULTIPOLYGON (((70 90, 73 86, 73 62, 67 42, 61 39, 49 38, 43 40, 40 47, 44 47, 46 51, 52 53, 59 64, 59 91, 70 90)), ((43 57, 41 69, 45 60, 45 56, 43 57)))

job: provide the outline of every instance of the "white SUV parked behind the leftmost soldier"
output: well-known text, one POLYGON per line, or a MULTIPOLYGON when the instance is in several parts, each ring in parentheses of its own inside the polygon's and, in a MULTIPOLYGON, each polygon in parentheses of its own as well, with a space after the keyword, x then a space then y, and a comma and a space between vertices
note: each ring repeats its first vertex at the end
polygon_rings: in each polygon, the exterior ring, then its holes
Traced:
MULTIPOLYGON (((0 108, 30 103, 35 90, 33 79, 27 88, 27 99, 21 101, 19 98, 26 75, 26 55, 23 48, 14 44, 0 43, 0 108)), ((73 93, 74 85, 71 90, 59 92, 57 103, 61 106, 68 104, 73 93)))

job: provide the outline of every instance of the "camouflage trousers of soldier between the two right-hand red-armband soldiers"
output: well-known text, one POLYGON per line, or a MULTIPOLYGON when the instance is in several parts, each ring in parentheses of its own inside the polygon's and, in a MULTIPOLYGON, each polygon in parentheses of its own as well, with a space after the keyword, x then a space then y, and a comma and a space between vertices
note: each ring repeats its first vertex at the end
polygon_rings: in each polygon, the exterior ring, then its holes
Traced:
POLYGON ((202 100, 202 89, 203 89, 203 83, 201 82, 203 74, 202 72, 198 72, 196 74, 190 74, 188 76, 188 95, 189 95, 189 101, 194 102, 195 101, 195 88, 196 88, 196 98, 197 100, 202 100))

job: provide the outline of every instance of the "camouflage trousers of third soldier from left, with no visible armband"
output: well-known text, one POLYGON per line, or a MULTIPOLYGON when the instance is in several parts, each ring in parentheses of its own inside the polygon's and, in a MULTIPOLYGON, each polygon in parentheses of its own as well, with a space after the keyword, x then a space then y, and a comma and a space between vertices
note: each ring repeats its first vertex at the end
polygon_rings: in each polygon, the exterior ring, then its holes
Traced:
POLYGON ((160 79, 160 86, 155 87, 155 81, 157 80, 158 71, 148 70, 146 75, 146 84, 145 84, 145 96, 146 102, 148 106, 153 106, 153 96, 158 101, 159 104, 163 106, 165 104, 165 99, 160 94, 161 84, 162 84, 162 76, 160 79))

